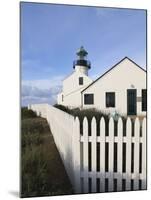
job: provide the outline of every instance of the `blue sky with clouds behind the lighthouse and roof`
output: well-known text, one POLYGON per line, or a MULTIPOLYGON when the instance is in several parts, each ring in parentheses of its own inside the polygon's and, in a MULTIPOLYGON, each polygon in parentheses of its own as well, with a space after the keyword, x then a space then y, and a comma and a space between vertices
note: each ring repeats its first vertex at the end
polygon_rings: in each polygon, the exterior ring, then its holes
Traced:
POLYGON ((100 76, 128 56, 146 68, 144 10, 21 3, 22 105, 56 101, 83 45, 100 76))

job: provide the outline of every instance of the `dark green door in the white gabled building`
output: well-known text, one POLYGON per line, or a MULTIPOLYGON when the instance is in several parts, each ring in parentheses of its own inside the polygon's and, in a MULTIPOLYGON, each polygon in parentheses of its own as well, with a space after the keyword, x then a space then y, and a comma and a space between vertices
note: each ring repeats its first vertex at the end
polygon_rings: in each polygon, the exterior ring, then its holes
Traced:
POLYGON ((136 115, 136 89, 127 90, 127 115, 136 115))

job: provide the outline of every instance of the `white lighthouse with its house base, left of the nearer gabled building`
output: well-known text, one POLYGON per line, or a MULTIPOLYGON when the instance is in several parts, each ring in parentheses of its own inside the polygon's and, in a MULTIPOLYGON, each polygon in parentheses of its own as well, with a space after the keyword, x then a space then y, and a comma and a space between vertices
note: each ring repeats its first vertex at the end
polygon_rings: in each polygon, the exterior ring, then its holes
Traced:
POLYGON ((92 83, 88 77, 88 70, 91 68, 91 63, 87 60, 88 52, 81 46, 76 55, 74 71, 63 80, 62 92, 57 99, 58 104, 68 107, 81 107, 81 91, 92 83))

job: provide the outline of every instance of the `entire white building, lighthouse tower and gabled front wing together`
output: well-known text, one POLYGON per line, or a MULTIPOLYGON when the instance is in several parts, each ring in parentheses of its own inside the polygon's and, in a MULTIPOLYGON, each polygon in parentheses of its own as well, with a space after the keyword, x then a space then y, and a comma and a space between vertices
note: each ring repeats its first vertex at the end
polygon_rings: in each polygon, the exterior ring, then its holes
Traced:
POLYGON ((88 77, 88 53, 81 47, 74 62, 74 72, 63 81, 58 104, 69 107, 96 108, 124 115, 146 115, 146 71, 125 57, 92 81, 88 77))

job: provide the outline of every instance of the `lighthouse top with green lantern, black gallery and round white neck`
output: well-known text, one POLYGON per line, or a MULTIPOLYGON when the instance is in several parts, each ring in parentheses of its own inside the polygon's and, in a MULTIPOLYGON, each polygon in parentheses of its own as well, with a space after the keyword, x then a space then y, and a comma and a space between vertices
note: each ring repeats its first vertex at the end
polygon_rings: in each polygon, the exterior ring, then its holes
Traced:
POLYGON ((91 68, 91 63, 87 60, 88 52, 83 46, 76 52, 77 59, 73 62, 73 68, 76 72, 81 72, 88 76, 88 70, 91 68))

